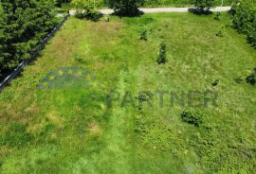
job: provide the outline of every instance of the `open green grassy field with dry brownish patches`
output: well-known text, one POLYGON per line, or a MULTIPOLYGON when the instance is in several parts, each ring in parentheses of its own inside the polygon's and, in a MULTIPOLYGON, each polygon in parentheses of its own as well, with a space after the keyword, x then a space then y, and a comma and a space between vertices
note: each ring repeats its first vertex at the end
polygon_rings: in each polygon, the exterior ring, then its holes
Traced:
POLYGON ((234 78, 247 77, 256 52, 226 14, 213 17, 70 17, 0 94, 0 173, 253 173, 256 91, 234 78), (148 41, 139 40, 144 30, 148 41), (158 65, 163 40, 168 61, 158 65), (65 73, 74 78, 61 80, 65 73), (57 79, 59 88, 47 89, 57 79), (187 106, 170 107, 167 96, 162 108, 157 97, 153 107, 121 107, 120 99, 108 108, 111 90, 130 91, 135 100, 138 91, 210 90, 219 94, 218 107, 197 108, 203 123, 195 127, 181 119, 187 106))

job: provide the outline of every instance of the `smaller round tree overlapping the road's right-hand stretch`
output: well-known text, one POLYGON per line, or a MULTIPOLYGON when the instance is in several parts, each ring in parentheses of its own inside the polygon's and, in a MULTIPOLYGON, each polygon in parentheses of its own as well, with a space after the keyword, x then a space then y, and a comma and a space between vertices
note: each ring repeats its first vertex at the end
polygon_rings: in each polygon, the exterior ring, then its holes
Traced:
POLYGON ((209 13, 214 5, 214 0, 192 0, 192 4, 200 14, 209 13))

